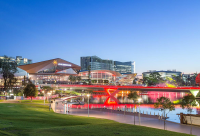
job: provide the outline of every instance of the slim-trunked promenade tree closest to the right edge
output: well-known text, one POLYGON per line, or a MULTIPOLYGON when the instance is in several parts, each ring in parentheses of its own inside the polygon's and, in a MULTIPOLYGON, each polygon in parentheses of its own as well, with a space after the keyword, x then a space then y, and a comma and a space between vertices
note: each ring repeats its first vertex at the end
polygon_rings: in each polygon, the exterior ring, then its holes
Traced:
POLYGON ((183 99, 180 102, 181 108, 182 109, 187 109, 188 113, 190 113, 190 123, 191 123, 191 128, 190 128, 190 134, 192 134, 192 110, 194 106, 197 106, 197 102, 195 100, 195 97, 190 94, 186 95, 183 97, 183 99))

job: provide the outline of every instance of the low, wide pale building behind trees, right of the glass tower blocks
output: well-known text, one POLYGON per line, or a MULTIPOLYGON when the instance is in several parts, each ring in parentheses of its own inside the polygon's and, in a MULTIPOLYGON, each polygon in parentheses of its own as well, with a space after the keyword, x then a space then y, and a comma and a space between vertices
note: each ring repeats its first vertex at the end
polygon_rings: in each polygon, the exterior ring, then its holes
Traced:
POLYGON ((155 73, 155 72, 159 73, 162 78, 172 77, 173 75, 174 76, 182 76, 182 72, 179 72, 179 71, 176 71, 176 70, 167 70, 167 71, 164 71, 164 70, 160 70, 160 71, 149 70, 148 72, 143 72, 142 76, 143 76, 143 78, 149 77, 149 75, 151 73, 155 73))

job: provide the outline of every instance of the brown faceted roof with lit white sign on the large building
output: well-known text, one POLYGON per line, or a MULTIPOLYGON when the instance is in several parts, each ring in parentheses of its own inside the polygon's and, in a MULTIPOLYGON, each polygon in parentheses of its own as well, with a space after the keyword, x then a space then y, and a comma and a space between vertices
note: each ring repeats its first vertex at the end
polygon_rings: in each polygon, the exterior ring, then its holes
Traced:
POLYGON ((51 72, 51 73, 59 73, 63 70, 69 71, 69 69, 72 69, 76 73, 78 73, 81 69, 80 66, 73 64, 71 62, 65 61, 63 59, 60 59, 60 58, 18 66, 18 68, 21 68, 25 70, 27 73, 32 73, 32 74, 38 73, 46 69, 51 69, 54 67, 55 67, 55 72, 51 72))

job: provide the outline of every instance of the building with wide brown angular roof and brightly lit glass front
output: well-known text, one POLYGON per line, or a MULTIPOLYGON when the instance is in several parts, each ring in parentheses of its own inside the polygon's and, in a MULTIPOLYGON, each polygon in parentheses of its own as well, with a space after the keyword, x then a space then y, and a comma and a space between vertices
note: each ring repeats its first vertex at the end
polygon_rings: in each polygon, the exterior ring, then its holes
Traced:
POLYGON ((69 75, 78 75, 81 67, 60 58, 21 65, 18 68, 27 73, 35 84, 66 84, 69 75))

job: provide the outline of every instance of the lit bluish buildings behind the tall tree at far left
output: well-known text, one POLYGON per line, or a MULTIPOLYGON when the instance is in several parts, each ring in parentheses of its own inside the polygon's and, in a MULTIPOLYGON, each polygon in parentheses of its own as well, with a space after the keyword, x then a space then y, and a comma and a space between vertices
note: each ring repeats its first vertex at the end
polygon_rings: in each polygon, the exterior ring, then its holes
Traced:
MULTIPOLYGON (((16 58, 14 57, 10 57, 10 58, 11 58, 11 61, 15 61, 18 66, 32 63, 31 59, 22 58, 22 56, 16 56, 16 58)), ((4 56, 0 56, 0 59, 4 59, 4 56)))

